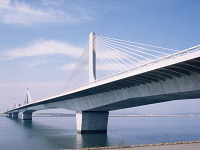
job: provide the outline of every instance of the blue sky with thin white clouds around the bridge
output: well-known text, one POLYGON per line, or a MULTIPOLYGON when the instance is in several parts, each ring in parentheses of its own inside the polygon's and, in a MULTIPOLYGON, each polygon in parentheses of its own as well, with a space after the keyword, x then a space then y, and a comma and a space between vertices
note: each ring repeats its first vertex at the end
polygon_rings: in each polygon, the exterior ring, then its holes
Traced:
MULTIPOLYGON (((0 112, 62 91, 97 35, 184 50, 200 44, 199 0, 0 0, 0 112)), ((116 112, 200 112, 179 100, 116 112)), ((54 110, 53 112, 59 112, 54 110)))

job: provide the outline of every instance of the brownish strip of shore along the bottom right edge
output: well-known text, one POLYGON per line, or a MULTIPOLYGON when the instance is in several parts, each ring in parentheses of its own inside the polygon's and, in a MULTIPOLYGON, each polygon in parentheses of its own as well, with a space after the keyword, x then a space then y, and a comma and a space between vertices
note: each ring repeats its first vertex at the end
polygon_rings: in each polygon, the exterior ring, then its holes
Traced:
MULTIPOLYGON (((76 150, 109 150, 109 149, 136 149, 136 148, 153 148, 153 147, 159 147, 161 148, 161 146, 165 147, 164 149, 166 149, 166 146, 183 146, 184 144, 200 144, 200 141, 186 141, 186 142, 174 142, 174 143, 158 143, 158 144, 143 144, 143 145, 122 145, 122 146, 109 146, 109 147, 91 147, 91 148, 81 148, 81 149, 76 149, 76 150)), ((199 148, 199 146, 197 147, 199 148)), ((169 148, 170 150, 171 148, 169 148)), ((60 150, 67 150, 67 149, 60 149, 60 150)), ((75 149, 71 149, 71 150, 75 150, 75 149)))

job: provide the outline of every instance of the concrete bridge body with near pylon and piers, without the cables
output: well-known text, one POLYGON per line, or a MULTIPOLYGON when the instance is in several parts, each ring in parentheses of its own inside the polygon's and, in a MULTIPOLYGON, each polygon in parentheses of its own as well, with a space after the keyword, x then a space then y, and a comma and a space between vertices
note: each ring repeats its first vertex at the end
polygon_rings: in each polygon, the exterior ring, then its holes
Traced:
POLYGON ((94 38, 91 33, 88 84, 6 113, 15 118, 22 112, 26 120, 38 110, 64 108, 76 112, 78 132, 106 132, 109 111, 200 98, 199 45, 96 80, 94 38))

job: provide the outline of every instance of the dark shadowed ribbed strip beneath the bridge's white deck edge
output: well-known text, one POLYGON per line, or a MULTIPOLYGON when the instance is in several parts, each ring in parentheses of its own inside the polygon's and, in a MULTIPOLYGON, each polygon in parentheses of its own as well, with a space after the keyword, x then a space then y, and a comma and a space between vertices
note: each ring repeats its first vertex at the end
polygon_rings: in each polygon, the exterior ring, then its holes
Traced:
MULTIPOLYGON (((136 74, 127 78, 122 78, 119 80, 114 80, 109 84, 101 84, 95 87, 84 89, 82 91, 75 92, 73 94, 62 95, 57 98, 49 99, 48 101, 40 101, 38 103, 29 104, 23 106, 23 109, 28 107, 34 107, 36 105, 46 105, 47 103, 55 103, 60 101, 71 101, 73 99, 78 99, 81 97, 88 97, 92 95, 99 95, 101 93, 114 92, 123 89, 139 88, 141 86, 150 86, 154 84, 161 84, 178 80, 179 78, 199 75, 200 70, 200 58, 194 58, 180 63, 172 64, 170 66, 165 66, 144 73, 136 74)), ((195 82, 195 81, 194 81, 195 82)), ((192 98, 192 97, 191 97, 192 98)), ((57 107, 57 106, 55 106, 57 107)), ((15 110, 22 109, 21 107, 15 110)), ((49 107, 50 108, 50 107, 49 107)), ((53 108, 53 106, 51 106, 53 108)))

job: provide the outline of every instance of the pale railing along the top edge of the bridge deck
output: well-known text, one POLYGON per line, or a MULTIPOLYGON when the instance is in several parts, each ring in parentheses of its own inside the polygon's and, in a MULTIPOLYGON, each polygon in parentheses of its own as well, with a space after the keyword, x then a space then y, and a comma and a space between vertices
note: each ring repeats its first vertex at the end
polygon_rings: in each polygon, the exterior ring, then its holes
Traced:
MULTIPOLYGON (((183 51, 179 51, 179 52, 177 52, 177 53, 174 53, 174 54, 168 55, 168 56, 166 56, 166 57, 163 57, 163 58, 160 58, 160 59, 151 61, 151 62, 149 62, 149 63, 145 63, 145 64, 143 64, 143 65, 139 65, 139 66, 136 66, 136 67, 134 67, 134 68, 127 69, 127 70, 125 70, 125 71, 121 71, 121 72, 119 72, 119 73, 116 73, 116 74, 113 74, 113 75, 110 75, 110 76, 107 76, 107 77, 98 79, 98 80, 96 80, 96 81, 94 81, 94 82, 87 83, 87 84, 84 84, 84 85, 82 85, 82 86, 75 87, 75 88, 73 88, 73 89, 71 89, 71 90, 76 90, 76 89, 79 89, 79 88, 82 88, 82 87, 85 87, 85 86, 89 86, 89 85, 94 84, 94 83, 98 83, 98 82, 102 82, 102 81, 105 81, 105 80, 108 80, 108 79, 111 79, 111 78, 115 78, 115 77, 117 77, 117 76, 121 76, 121 75, 123 75, 123 74, 130 73, 130 72, 133 72, 133 71, 136 71, 136 70, 139 70, 139 69, 143 69, 143 68, 146 68, 146 67, 149 67, 149 66, 152 66, 152 65, 161 63, 161 62, 165 62, 165 61, 168 61, 168 60, 177 58, 177 57, 181 57, 181 56, 184 56, 184 55, 187 55, 187 54, 196 52, 196 51, 200 51, 200 45, 197 45, 197 46, 188 48, 188 49, 183 50, 183 51)), ((71 90, 69 90, 69 91, 71 91, 71 90)))

